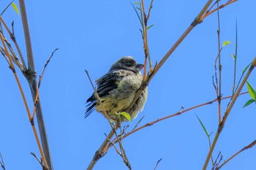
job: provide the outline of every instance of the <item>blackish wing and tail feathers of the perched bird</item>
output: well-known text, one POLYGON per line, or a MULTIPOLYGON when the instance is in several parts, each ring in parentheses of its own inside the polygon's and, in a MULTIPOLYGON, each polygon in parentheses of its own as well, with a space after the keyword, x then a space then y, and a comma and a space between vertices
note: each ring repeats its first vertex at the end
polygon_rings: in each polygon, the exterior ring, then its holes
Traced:
MULTIPOLYGON (((121 79, 124 77, 124 74, 121 74, 122 72, 120 70, 115 72, 108 72, 108 74, 105 74, 103 77, 100 77, 98 80, 96 80, 97 83, 97 93, 99 94, 99 98, 104 98, 105 96, 108 96, 109 92, 113 89, 116 89, 118 87, 118 84, 116 82, 120 82, 121 79)), ((86 101, 87 104, 86 107, 86 114, 85 117, 89 116, 91 112, 95 110, 95 107, 98 104, 97 98, 95 98, 94 93, 89 97, 86 101)))

